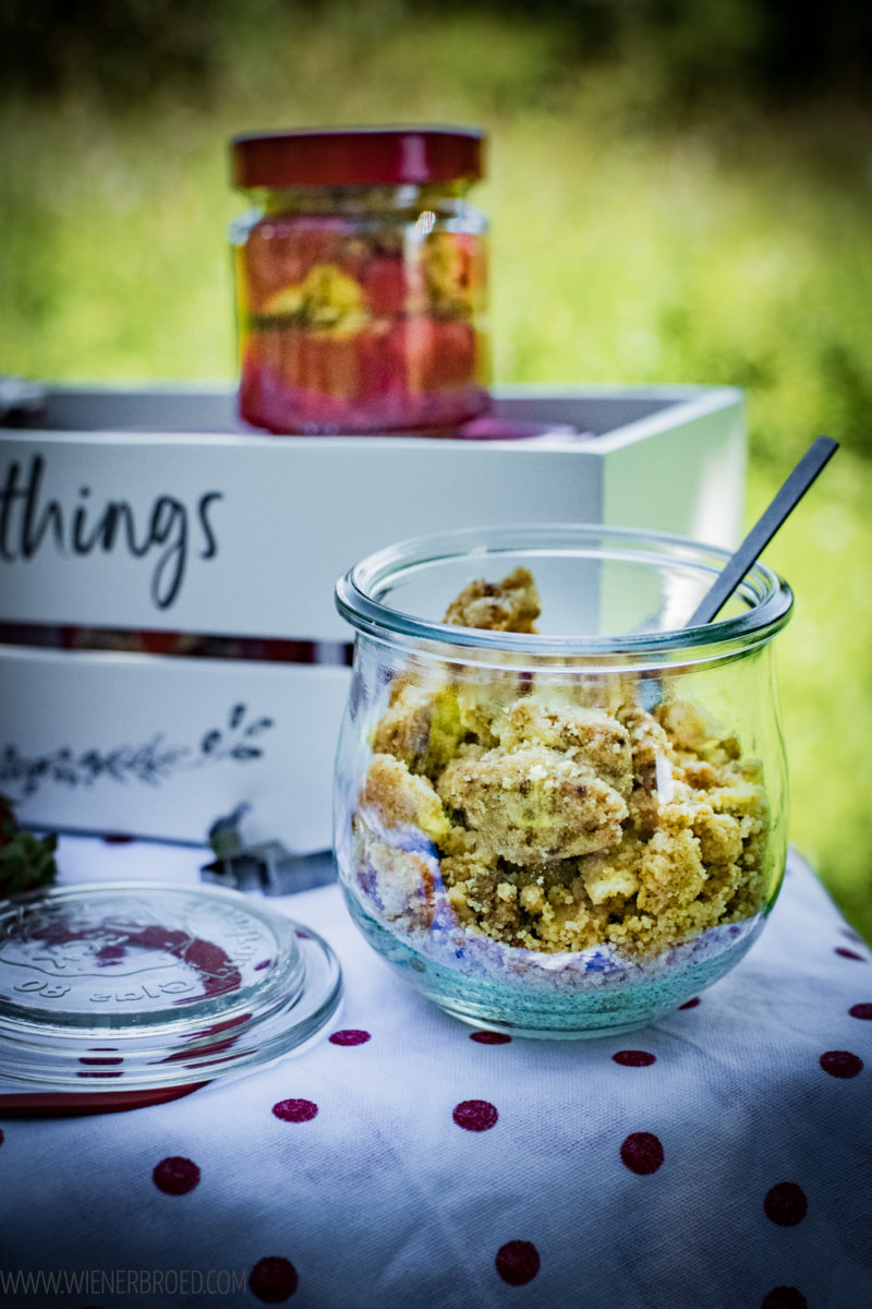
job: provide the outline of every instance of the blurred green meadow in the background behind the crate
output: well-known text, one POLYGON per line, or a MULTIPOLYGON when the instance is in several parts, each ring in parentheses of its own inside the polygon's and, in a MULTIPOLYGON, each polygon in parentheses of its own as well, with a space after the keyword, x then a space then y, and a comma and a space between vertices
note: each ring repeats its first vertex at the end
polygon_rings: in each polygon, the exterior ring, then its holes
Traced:
POLYGON ((0 372, 235 377, 235 132, 473 122, 495 380, 745 387, 791 835, 872 941, 872 10, 848 0, 0 0, 0 372))

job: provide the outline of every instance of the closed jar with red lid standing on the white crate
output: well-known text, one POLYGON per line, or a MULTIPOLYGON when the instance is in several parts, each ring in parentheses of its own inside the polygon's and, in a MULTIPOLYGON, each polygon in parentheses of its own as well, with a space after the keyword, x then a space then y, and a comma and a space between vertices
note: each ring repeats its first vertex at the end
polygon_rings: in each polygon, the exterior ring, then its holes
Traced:
POLYGON ((477 128, 237 137, 241 416, 271 432, 451 427, 488 408, 477 128))

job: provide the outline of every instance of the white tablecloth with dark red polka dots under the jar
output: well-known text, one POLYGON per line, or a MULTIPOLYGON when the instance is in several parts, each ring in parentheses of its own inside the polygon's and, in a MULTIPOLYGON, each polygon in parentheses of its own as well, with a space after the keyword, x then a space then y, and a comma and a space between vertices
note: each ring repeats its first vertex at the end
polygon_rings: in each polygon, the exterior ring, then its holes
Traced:
MULTIPOLYGON (((60 856, 65 880, 203 861, 71 838, 60 856)), ((170 1103, 0 1110, 0 1304, 872 1306, 872 952, 797 856, 733 973, 595 1042, 442 1014, 336 886, 271 903, 336 950, 339 1016, 170 1103)))

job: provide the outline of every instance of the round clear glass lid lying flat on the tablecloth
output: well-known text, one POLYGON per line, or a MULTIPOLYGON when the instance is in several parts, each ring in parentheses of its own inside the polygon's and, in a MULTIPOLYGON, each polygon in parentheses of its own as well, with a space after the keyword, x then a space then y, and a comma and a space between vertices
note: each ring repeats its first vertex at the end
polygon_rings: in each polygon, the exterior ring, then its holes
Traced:
POLYGON ((210 1081, 309 1041, 340 990, 322 937, 238 891, 101 882, 0 910, 0 1067, 22 1088, 210 1081))

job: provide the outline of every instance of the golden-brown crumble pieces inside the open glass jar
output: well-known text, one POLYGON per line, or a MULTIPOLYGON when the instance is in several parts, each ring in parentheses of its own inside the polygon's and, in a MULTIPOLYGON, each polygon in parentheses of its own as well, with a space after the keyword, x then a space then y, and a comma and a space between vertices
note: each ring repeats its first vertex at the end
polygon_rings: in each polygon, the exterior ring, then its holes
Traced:
MULTIPOLYGON (((446 620, 531 631, 536 617, 532 576, 515 569, 472 584, 446 620)), ((409 673, 395 681, 373 749, 357 819, 361 884, 377 876, 392 922, 409 931, 441 895, 455 923, 509 945, 638 953, 763 906, 760 764, 690 703, 667 694, 651 706, 641 678, 531 683, 506 668, 429 683, 409 673), (424 855, 409 846, 416 833, 424 855), (425 872, 386 856, 384 842, 405 843, 425 872)))

